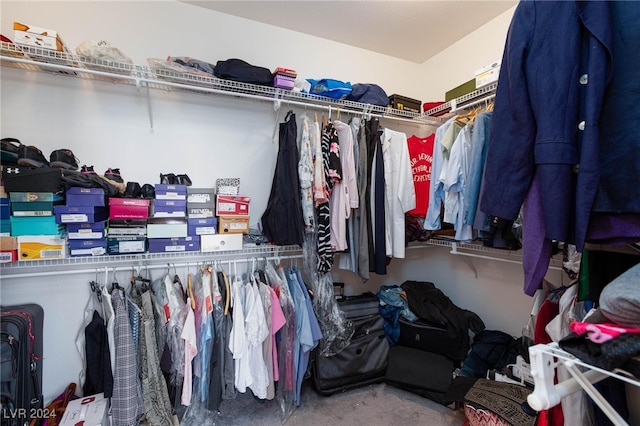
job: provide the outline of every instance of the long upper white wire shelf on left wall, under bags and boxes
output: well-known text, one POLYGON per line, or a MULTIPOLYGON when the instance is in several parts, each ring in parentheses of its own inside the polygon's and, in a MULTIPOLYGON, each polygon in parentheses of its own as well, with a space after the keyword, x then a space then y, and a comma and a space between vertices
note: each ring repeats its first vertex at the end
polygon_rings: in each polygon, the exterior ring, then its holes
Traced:
POLYGON ((3 66, 29 71, 55 72, 72 77, 94 80, 108 80, 138 87, 144 85, 154 89, 183 90, 201 93, 215 93, 237 97, 249 97, 269 102, 284 102, 294 105, 322 106, 357 111, 382 118, 410 120, 418 124, 441 124, 437 117, 427 117, 391 107, 363 104, 348 100, 334 100, 309 93, 283 90, 271 86, 236 82, 203 75, 203 72, 179 72, 148 65, 97 61, 83 58, 69 52, 57 52, 32 46, 0 44, 0 61, 3 66))

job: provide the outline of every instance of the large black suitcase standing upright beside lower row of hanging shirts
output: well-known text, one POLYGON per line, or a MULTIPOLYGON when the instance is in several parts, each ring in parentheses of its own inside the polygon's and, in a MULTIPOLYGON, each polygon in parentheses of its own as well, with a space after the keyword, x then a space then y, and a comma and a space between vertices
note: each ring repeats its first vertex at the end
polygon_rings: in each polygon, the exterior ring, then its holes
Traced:
POLYGON ((353 322, 354 333, 349 345, 337 354, 327 357, 314 353, 313 385, 319 394, 329 396, 384 381, 389 342, 378 304, 373 293, 347 297, 338 303, 353 322))

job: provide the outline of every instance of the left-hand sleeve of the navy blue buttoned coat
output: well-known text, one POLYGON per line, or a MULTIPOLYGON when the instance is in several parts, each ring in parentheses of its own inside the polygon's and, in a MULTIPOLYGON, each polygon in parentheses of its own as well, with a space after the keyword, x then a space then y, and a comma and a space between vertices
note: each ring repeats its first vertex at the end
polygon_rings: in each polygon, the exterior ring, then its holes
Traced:
POLYGON ((525 73, 534 3, 518 4, 507 33, 480 201, 486 214, 509 220, 518 216, 535 170, 536 120, 529 85, 536 82, 527 81, 525 73))

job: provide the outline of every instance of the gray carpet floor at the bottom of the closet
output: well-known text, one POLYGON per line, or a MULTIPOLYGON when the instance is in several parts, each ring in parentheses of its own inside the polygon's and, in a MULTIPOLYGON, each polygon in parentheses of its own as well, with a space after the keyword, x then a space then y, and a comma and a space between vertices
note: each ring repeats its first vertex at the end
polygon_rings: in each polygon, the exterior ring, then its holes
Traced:
POLYGON ((224 426, 461 426, 464 411, 453 410, 419 395, 387 384, 369 385, 334 394, 318 394, 303 383, 301 404, 282 422, 278 403, 257 401, 247 391, 223 401, 215 422, 224 426))

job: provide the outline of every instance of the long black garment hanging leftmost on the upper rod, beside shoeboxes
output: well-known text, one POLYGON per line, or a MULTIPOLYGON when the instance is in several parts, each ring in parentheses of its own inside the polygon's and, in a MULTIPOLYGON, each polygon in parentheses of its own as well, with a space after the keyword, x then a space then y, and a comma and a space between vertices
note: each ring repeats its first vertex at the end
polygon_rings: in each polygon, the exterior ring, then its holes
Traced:
POLYGON ((279 124, 276 169, 267 207, 262 215, 264 234, 276 245, 302 246, 304 220, 300 202, 296 115, 289 111, 279 124))

